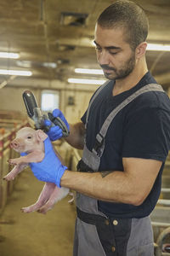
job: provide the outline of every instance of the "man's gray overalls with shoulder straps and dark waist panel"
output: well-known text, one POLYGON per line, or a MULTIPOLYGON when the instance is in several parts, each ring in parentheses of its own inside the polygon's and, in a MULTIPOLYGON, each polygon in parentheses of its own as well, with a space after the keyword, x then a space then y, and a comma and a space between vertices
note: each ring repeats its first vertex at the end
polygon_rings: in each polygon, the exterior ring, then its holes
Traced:
MULTIPOLYGON (((105 83, 94 95, 95 97, 105 87, 105 83)), ((147 84, 127 97, 105 119, 96 143, 91 151, 86 143, 83 148, 82 161, 94 172, 98 172, 100 158, 105 148, 105 135, 116 114, 137 96, 147 91, 164 91, 159 84, 147 84)), ((101 92, 102 93, 102 92, 101 92)), ((81 170, 77 170, 81 172, 81 170)), ((77 222, 75 228, 74 256, 153 256, 153 234, 150 218, 108 218, 98 210, 98 201, 86 195, 77 193, 77 222)))

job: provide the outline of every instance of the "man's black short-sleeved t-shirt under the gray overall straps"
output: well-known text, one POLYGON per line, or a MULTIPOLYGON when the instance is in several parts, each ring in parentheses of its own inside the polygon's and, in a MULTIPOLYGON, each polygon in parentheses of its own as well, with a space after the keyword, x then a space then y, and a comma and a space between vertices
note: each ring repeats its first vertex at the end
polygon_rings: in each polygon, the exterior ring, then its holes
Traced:
MULTIPOLYGON (((99 93, 92 103, 88 116, 86 144, 94 148, 95 137, 105 119, 123 100, 146 84, 156 84, 150 72, 132 89, 112 96, 114 81, 99 93)), ((87 113, 87 112, 86 112, 87 113)), ((82 116, 85 124, 86 113, 82 116)), ((150 195, 140 206, 99 201, 99 210, 117 218, 143 218, 156 206, 161 191, 161 173, 170 149, 170 100, 166 93, 150 91, 138 96, 117 113, 105 137, 105 150, 99 172, 123 172, 122 158, 136 157, 161 160, 161 170, 150 195)))

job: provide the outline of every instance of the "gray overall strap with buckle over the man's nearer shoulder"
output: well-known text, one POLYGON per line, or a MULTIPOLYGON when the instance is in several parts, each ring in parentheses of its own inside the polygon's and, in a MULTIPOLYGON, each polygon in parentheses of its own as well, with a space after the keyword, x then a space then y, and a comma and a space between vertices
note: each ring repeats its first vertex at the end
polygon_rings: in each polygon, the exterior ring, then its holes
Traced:
MULTIPOLYGON (((118 105, 115 109, 112 110, 112 112, 109 114, 109 116, 105 119, 104 124, 102 125, 99 133, 96 136, 95 145, 93 148, 93 152, 95 154, 98 154, 101 156, 103 152, 100 152, 100 147, 104 143, 105 135, 107 133, 107 130, 109 126, 111 125, 112 120, 115 118, 116 114, 119 113, 122 108, 126 107, 128 103, 132 102, 136 97, 139 95, 148 92, 148 91, 161 91, 164 92, 160 84, 146 84, 141 89, 135 91, 131 96, 128 96, 127 99, 125 99, 120 105, 118 105)), ((103 151, 103 150, 102 150, 103 151)))

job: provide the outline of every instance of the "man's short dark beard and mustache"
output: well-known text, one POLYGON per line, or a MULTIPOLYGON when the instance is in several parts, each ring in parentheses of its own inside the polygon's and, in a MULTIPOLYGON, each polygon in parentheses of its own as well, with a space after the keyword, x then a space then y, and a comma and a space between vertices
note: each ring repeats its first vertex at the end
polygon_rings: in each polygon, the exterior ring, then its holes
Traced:
POLYGON ((113 70, 113 73, 104 72, 105 78, 110 80, 126 78, 130 73, 133 72, 134 66, 135 66, 134 53, 133 55, 130 56, 130 58, 126 62, 124 62, 123 66, 120 69, 109 67, 107 65, 100 65, 100 67, 103 69, 113 70))

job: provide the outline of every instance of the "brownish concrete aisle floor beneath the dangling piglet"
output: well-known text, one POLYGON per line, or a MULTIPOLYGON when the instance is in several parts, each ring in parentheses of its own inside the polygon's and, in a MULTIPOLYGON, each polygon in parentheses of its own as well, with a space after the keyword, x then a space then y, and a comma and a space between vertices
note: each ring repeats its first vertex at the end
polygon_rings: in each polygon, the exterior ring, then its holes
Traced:
POLYGON ((71 256, 76 209, 67 201, 59 201, 43 215, 23 213, 21 207, 37 201, 42 182, 26 170, 20 174, 3 214, 0 216, 1 256, 71 256))

